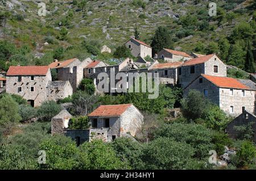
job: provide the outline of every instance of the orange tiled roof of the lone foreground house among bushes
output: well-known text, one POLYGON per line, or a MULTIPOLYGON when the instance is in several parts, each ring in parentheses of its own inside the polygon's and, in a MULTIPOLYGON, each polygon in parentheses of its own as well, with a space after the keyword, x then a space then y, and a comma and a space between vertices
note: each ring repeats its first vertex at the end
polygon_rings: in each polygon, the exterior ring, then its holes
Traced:
POLYGON ((102 117, 102 116, 120 116, 133 104, 117 104, 117 105, 101 105, 88 116, 102 117))

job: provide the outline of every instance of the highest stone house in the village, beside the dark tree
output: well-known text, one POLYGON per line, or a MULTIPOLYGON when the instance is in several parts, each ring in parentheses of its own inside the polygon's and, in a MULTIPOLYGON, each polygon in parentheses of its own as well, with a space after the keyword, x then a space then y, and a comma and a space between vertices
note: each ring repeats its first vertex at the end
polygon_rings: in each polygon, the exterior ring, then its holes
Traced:
POLYGON ((125 46, 131 50, 131 54, 133 54, 134 57, 152 57, 152 47, 143 41, 131 37, 131 39, 125 43, 125 46))

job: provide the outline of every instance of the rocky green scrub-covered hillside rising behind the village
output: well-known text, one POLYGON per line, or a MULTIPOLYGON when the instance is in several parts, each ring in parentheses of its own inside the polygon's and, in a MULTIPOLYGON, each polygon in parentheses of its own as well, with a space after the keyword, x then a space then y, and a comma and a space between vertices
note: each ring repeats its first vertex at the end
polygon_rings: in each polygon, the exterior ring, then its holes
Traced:
MULTIPOLYGON (((82 40, 96 40, 115 49, 125 43, 138 27, 141 40, 151 43, 158 26, 167 26, 173 35, 174 48, 195 51, 196 43, 206 46, 221 36, 229 36, 241 22, 253 17, 253 0, 214 1, 217 16, 210 17, 208 0, 104 0, 104 1, 42 1, 46 16, 39 16, 41 1, 0 0, 2 18, 0 38, 20 47, 28 45, 28 58, 42 57, 57 47, 76 47, 82 40), (61 37, 68 31, 65 38, 61 37), (64 30, 63 30, 64 31, 64 30), (49 45, 43 47, 45 42, 49 45)), ((71 49, 71 48, 70 48, 71 49)), ((85 57, 88 53, 74 48, 62 58, 85 57), (81 56, 82 54, 82 56, 81 56)))

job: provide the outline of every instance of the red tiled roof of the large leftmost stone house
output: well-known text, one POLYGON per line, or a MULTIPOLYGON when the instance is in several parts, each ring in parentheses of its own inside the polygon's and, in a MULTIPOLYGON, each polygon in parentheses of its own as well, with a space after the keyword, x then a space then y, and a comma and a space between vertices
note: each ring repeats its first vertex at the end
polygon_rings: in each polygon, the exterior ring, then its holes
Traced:
POLYGON ((10 66, 8 75, 46 75, 49 66, 10 66))

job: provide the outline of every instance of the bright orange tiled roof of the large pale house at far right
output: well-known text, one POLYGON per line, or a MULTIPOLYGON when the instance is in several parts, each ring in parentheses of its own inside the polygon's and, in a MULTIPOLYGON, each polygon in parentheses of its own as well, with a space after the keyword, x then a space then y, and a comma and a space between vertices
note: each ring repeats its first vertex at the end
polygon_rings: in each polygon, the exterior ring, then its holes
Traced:
POLYGON ((251 90, 250 87, 242 84, 235 78, 231 77, 217 77, 212 75, 201 74, 204 78, 208 79, 208 81, 212 82, 217 87, 222 88, 232 88, 232 89, 248 89, 251 90))

